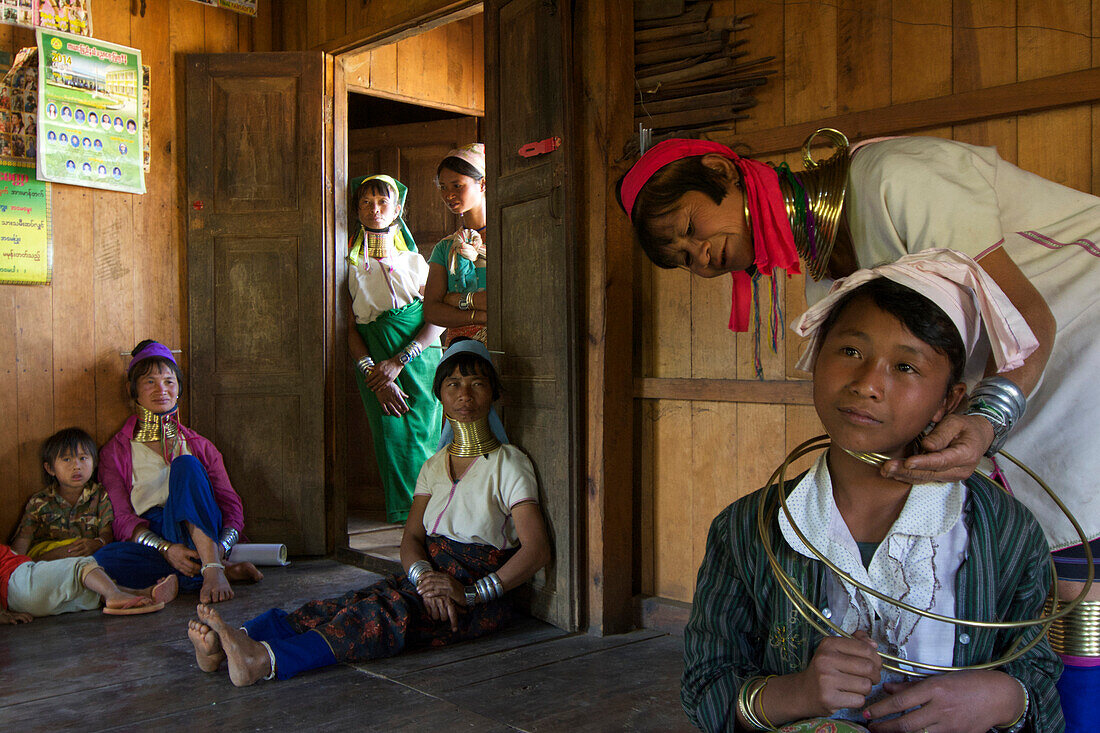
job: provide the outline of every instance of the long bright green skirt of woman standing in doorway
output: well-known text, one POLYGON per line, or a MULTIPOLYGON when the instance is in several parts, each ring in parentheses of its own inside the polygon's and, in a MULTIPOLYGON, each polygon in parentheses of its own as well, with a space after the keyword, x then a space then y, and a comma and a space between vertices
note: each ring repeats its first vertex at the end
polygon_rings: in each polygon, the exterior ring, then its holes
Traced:
MULTIPOLYGON (((414 300, 394 308, 370 324, 356 324, 375 361, 400 353, 424 327, 424 305, 414 300)), ((431 382, 441 358, 439 349, 425 349, 397 375, 397 385, 408 395, 409 412, 402 417, 382 414, 382 405, 366 386, 360 371, 355 383, 363 398, 374 439, 374 455, 386 496, 386 519, 404 522, 413 505, 413 491, 420 467, 436 452, 442 428, 443 406, 431 393, 431 382)))

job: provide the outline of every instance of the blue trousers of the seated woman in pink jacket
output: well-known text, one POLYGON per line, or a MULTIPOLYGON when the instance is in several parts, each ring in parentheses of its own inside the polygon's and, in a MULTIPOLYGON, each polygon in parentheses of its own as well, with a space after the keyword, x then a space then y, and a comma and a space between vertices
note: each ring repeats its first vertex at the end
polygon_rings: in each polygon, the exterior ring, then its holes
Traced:
MULTIPOLYGON (((168 500, 144 514, 148 528, 169 543, 195 549, 185 522, 190 522, 207 537, 218 541, 221 534, 221 510, 213 500, 213 488, 206 469, 194 456, 179 456, 172 461, 168 473, 168 500)), ((165 576, 179 577, 179 589, 194 591, 202 587, 202 575, 185 576, 173 568, 152 547, 131 541, 113 541, 94 556, 114 582, 129 588, 152 586, 165 576)))

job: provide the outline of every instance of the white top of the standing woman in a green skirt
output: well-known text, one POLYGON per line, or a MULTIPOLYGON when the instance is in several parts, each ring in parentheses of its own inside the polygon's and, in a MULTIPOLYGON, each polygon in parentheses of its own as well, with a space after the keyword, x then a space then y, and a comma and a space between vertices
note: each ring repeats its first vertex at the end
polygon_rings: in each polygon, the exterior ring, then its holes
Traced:
POLYGON ((348 263, 348 291, 356 324, 370 324, 387 310, 422 299, 428 263, 416 252, 395 251, 377 260, 364 252, 356 265, 348 263))

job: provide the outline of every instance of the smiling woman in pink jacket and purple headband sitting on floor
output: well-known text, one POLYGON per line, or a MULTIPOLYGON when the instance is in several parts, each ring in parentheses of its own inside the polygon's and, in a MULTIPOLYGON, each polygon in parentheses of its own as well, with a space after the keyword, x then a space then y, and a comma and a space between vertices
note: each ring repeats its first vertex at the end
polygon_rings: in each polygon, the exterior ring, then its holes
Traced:
POLYGON ((202 603, 228 601, 229 581, 263 578, 251 562, 223 562, 244 529, 241 497, 213 444, 179 424, 172 352, 145 340, 132 357, 127 379, 138 414, 99 451, 120 541, 96 560, 122 586, 145 588, 175 572, 182 590, 201 587, 202 603))

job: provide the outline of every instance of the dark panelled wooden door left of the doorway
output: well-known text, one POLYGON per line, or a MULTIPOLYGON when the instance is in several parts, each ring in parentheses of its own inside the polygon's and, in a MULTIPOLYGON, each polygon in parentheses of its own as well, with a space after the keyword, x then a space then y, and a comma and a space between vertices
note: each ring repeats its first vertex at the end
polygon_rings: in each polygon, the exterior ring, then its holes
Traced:
POLYGON ((245 534, 324 553, 326 61, 187 57, 193 427, 221 450, 245 534))

